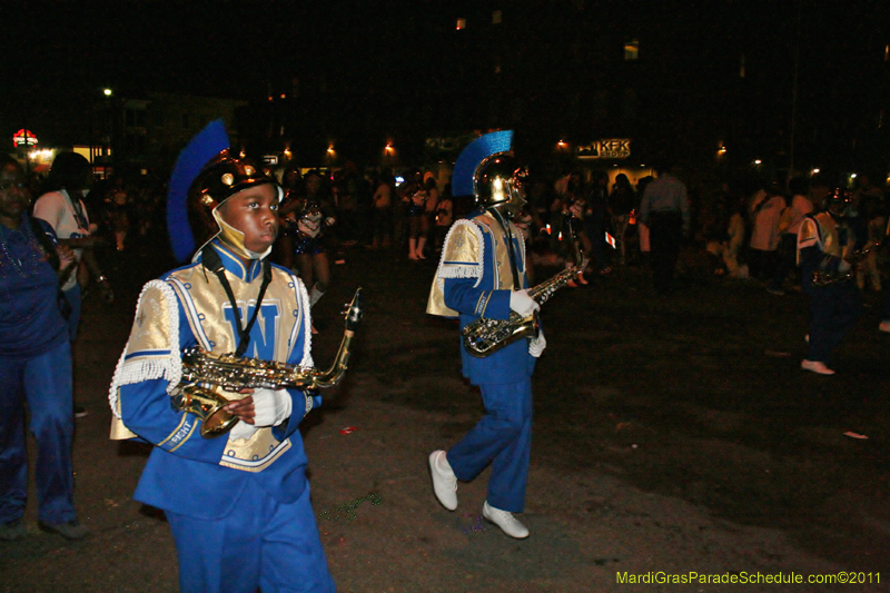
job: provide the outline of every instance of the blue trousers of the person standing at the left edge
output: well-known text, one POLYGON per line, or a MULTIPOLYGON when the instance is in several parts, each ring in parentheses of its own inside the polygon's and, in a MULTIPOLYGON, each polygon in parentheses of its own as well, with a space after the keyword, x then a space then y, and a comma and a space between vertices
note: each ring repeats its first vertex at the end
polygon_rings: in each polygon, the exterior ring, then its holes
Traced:
POLYGON ((28 502, 26 402, 29 428, 37 441, 38 518, 44 523, 77 518, 71 388, 71 345, 67 342, 24 360, 0 358, 0 522, 20 518, 28 502))

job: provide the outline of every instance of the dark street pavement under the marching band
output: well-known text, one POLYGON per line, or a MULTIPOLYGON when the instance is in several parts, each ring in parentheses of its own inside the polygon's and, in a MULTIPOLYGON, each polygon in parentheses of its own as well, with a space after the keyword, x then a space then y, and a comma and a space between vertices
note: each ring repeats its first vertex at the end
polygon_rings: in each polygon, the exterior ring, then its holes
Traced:
MULTIPOLYGON (((29 536, 0 543, 0 591, 177 590, 162 513, 131 497, 148 449, 108 439, 108 384, 139 286, 169 267, 158 251, 109 256, 117 300, 85 304, 76 394, 89 415, 77 421, 76 503, 92 534, 67 543, 39 532, 31 501, 29 536)), ((838 374, 823 377, 799 369, 798 293, 690 269, 661 298, 640 268, 560 291, 544 306, 548 346, 534 377, 522 515, 532 535, 515 541, 478 516, 487 471, 459 485, 455 512, 433 496, 427 455, 482 414, 461 378, 455 323, 424 313, 435 261, 360 248, 345 259, 315 312, 316 364, 333 360, 340 308, 358 286, 365 322, 347 377, 303 425, 338 591, 886 590, 890 335, 877 330, 873 295, 837 352, 838 374), (632 584, 690 573, 760 582, 632 584), (780 573, 804 584, 763 582, 780 573), (864 583, 805 584, 848 573, 864 583)))

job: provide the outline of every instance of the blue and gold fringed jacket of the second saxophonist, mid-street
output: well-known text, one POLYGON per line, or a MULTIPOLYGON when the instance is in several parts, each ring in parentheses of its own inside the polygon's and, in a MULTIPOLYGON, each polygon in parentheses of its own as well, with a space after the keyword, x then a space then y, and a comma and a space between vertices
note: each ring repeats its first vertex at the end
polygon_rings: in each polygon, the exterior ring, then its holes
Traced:
MULTIPOLYGON (((518 285, 527 288, 525 244, 513 223, 508 225, 520 274, 518 285)), ((508 319, 512 291, 513 270, 507 237, 500 223, 484 210, 455 221, 445 237, 426 313, 457 317, 461 329, 479 317, 508 319)), ((516 340, 485 358, 471 356, 462 343, 461 358, 464 376, 474 385, 526 380, 535 366, 535 358, 528 354, 527 339, 516 340)))

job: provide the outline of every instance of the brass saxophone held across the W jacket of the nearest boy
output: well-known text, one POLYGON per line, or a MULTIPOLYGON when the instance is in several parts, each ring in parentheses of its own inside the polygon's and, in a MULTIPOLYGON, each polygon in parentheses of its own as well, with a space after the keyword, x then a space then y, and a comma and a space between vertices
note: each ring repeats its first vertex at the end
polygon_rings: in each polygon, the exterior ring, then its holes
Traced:
POLYGON ((346 308, 346 328, 337 355, 327 370, 300 368, 287 363, 212 354, 199 347, 182 350, 182 378, 171 393, 174 409, 189 412, 201 419, 201 436, 212 438, 229 432, 238 422, 226 411, 229 399, 211 386, 228 392, 247 388, 300 389, 312 392, 333 387, 348 368, 349 346, 362 322, 363 295, 358 288, 346 308))

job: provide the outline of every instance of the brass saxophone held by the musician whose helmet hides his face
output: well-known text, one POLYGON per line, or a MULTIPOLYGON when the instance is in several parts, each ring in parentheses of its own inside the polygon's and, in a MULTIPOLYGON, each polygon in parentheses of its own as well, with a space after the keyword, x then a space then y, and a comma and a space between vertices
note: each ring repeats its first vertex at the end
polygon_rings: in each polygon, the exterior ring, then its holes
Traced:
MULTIPOLYGON (((577 238, 571 226, 567 238, 575 265, 528 289, 528 296, 538 305, 546 303, 556 290, 568 284, 568 280, 582 273, 587 266, 589 259, 582 257, 577 238)), ((522 317, 518 313, 512 310, 510 312, 510 318, 505 320, 479 317, 468 323, 461 330, 461 339, 471 356, 485 358, 517 339, 524 337, 536 338, 540 333, 541 320, 537 312, 532 312, 527 317, 522 317)))

